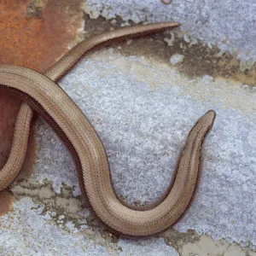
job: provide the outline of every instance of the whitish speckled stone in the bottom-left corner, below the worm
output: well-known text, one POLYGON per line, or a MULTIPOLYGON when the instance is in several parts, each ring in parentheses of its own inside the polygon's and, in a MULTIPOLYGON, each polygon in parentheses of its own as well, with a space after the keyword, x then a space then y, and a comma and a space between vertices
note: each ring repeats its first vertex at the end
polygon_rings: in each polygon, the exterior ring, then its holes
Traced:
MULTIPOLYGON (((44 207, 23 198, 0 221, 0 255, 110 255, 73 228, 63 230, 42 214, 44 207)), ((81 232, 82 233, 82 232, 81 232)))

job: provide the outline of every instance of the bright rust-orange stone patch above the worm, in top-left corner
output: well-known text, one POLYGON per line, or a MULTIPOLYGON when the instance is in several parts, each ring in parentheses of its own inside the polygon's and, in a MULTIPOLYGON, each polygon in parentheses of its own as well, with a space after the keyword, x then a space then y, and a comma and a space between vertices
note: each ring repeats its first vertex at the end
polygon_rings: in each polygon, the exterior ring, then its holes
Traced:
POLYGON ((82 22, 78 1, 49 1, 42 5, 42 17, 38 18, 28 12, 29 1, 0 2, 1 64, 43 72, 77 36, 82 22))

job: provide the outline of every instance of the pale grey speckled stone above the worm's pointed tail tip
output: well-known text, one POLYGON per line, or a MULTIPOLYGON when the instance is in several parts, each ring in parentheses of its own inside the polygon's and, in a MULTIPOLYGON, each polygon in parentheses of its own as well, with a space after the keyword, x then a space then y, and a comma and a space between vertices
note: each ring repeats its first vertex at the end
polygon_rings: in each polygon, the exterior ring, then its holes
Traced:
POLYGON ((256 60, 256 3, 253 0, 87 0, 85 12, 91 18, 121 16, 138 22, 178 21, 192 38, 217 45, 222 51, 237 53, 247 63, 256 60))

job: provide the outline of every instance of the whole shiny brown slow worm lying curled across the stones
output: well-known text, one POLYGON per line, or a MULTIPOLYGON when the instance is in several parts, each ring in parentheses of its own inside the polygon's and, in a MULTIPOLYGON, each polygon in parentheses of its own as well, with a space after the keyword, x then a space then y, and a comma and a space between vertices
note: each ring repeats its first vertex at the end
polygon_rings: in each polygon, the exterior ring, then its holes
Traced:
POLYGON ((168 193, 153 205, 137 209, 120 201, 115 194, 100 138, 84 113, 54 81, 96 46, 160 32, 178 25, 158 23, 105 32, 75 46, 45 74, 26 67, 0 66, 0 86, 24 101, 16 120, 9 160, 0 173, 0 189, 8 187, 20 171, 26 154, 33 109, 42 115, 70 150, 77 166, 82 194, 109 230, 125 236, 150 236, 174 224, 189 206, 195 190, 201 145, 212 127, 215 112, 210 110, 204 114, 190 131, 175 181, 168 193))

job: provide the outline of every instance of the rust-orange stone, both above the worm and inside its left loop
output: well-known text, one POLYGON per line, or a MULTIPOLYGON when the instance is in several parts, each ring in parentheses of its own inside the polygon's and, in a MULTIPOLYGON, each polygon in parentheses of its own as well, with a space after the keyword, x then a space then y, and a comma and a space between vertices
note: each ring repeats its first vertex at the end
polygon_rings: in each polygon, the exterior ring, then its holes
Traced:
MULTIPOLYGON (((0 65, 44 72, 67 51, 83 22, 80 0, 0 2, 0 65)), ((0 168, 5 163, 20 100, 0 90, 0 168)))

